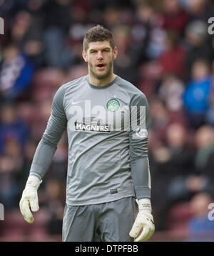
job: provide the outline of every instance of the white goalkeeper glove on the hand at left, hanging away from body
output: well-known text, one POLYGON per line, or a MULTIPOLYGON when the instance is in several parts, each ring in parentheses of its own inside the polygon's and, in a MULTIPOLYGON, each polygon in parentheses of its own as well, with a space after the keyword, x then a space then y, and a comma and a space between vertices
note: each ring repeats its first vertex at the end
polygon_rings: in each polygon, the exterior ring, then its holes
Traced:
POLYGON ((24 220, 30 224, 34 222, 34 217, 31 211, 37 212, 39 210, 37 189, 41 182, 42 181, 40 181, 38 177, 30 175, 19 202, 19 208, 21 214, 24 216, 24 220))

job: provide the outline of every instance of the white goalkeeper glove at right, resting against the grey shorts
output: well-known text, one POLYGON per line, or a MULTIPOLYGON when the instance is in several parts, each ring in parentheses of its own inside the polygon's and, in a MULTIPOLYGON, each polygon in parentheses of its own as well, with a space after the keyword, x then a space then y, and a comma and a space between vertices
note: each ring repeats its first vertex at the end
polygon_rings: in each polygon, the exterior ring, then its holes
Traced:
POLYGON ((148 240, 155 232, 153 215, 151 215, 151 202, 148 198, 136 200, 136 202, 138 203, 139 212, 129 235, 135 237, 134 242, 143 242, 148 240), (141 235, 138 235, 141 230, 141 235))

